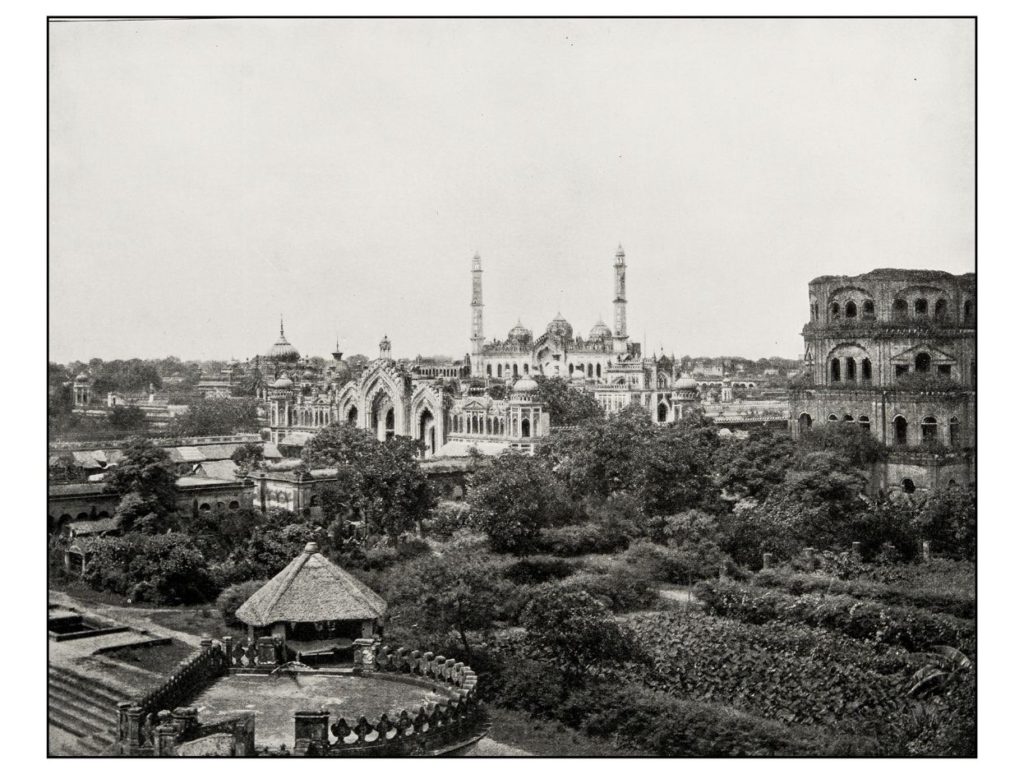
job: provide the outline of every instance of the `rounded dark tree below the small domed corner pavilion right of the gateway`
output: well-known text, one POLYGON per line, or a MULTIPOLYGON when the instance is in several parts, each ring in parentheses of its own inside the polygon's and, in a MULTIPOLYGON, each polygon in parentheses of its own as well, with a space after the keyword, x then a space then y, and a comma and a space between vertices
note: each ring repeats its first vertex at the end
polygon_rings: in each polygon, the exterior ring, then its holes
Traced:
POLYGON ((467 484, 470 522, 499 552, 529 553, 559 504, 557 481, 547 465, 514 451, 477 470, 467 484))

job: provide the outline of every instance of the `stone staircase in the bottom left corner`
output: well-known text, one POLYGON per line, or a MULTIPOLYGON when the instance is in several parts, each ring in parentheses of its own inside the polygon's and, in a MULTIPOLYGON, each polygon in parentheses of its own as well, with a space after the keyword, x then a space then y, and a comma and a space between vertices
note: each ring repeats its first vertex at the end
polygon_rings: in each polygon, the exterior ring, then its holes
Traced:
MULTIPOLYGON (((63 732, 59 750, 51 755, 106 756, 117 741, 118 702, 124 691, 93 678, 50 664, 49 724, 63 732)), ((56 734, 51 733, 51 745, 56 734)))

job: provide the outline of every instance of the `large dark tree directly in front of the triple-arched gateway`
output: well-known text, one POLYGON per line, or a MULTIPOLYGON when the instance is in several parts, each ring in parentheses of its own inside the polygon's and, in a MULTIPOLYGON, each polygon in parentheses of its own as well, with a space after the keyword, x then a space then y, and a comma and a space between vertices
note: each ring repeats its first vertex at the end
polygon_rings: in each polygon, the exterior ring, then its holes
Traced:
POLYGON ((392 543, 427 517, 434 494, 418 459, 423 445, 396 436, 383 443, 350 425, 331 425, 309 439, 302 459, 310 468, 337 468, 349 489, 338 507, 351 508, 392 543), (347 499, 346 499, 347 498, 347 499))

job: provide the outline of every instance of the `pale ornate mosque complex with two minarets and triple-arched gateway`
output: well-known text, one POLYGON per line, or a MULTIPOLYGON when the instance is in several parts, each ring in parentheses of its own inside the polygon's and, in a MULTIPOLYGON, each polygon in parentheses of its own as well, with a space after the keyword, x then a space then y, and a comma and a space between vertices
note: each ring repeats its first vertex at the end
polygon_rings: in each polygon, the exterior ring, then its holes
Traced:
POLYGON ((425 457, 461 457, 470 447, 483 454, 506 448, 532 453, 550 432, 551 419, 539 398, 535 377, 569 380, 593 393, 611 414, 640 404, 654 422, 672 422, 697 405, 697 383, 678 373, 666 356, 645 357, 630 341, 626 324, 626 253, 614 262, 612 328, 603 321, 587 338, 558 314, 534 338, 517 324, 506 340, 483 336, 482 267, 472 259, 472 333, 468 374, 458 360, 426 363, 396 360, 391 341, 378 357, 355 371, 336 347, 333 361, 316 368, 281 335, 264 356, 250 361, 249 384, 260 398, 269 440, 301 446, 319 428, 346 422, 381 440, 404 436, 424 445, 425 457), (490 387, 504 385, 506 398, 490 387))

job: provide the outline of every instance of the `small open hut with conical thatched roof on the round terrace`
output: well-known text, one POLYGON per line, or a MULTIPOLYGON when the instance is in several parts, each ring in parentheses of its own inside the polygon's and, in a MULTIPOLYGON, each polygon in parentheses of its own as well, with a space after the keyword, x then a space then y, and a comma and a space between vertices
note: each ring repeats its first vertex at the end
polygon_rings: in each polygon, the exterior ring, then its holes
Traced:
POLYGON ((317 551, 315 543, 267 580, 236 612, 249 639, 279 638, 297 659, 338 656, 381 632, 387 603, 317 551))

